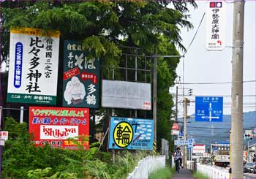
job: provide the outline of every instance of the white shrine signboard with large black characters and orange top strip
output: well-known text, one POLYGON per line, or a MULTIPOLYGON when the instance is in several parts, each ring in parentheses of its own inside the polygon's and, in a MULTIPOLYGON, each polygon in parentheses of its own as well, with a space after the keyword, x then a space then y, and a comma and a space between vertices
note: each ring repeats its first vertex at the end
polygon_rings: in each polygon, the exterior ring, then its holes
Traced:
POLYGON ((59 36, 59 31, 11 29, 7 102, 56 104, 59 36))

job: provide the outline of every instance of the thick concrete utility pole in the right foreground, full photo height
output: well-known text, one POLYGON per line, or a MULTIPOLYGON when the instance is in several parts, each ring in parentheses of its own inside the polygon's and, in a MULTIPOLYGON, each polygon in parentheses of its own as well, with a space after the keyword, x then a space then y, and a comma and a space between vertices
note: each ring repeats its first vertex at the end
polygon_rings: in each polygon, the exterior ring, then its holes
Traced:
POLYGON ((244 178, 243 170, 243 51, 244 1, 235 0, 233 9, 231 166, 232 178, 244 178))

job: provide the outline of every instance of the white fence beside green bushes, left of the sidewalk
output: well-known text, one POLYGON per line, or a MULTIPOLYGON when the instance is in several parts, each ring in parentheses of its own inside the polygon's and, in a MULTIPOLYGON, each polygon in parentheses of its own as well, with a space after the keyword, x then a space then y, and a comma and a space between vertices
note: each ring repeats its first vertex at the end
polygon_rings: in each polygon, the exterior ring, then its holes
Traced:
POLYGON ((129 173, 127 179, 148 178, 148 174, 163 167, 165 167, 165 156, 147 156, 138 162, 138 166, 129 173))

